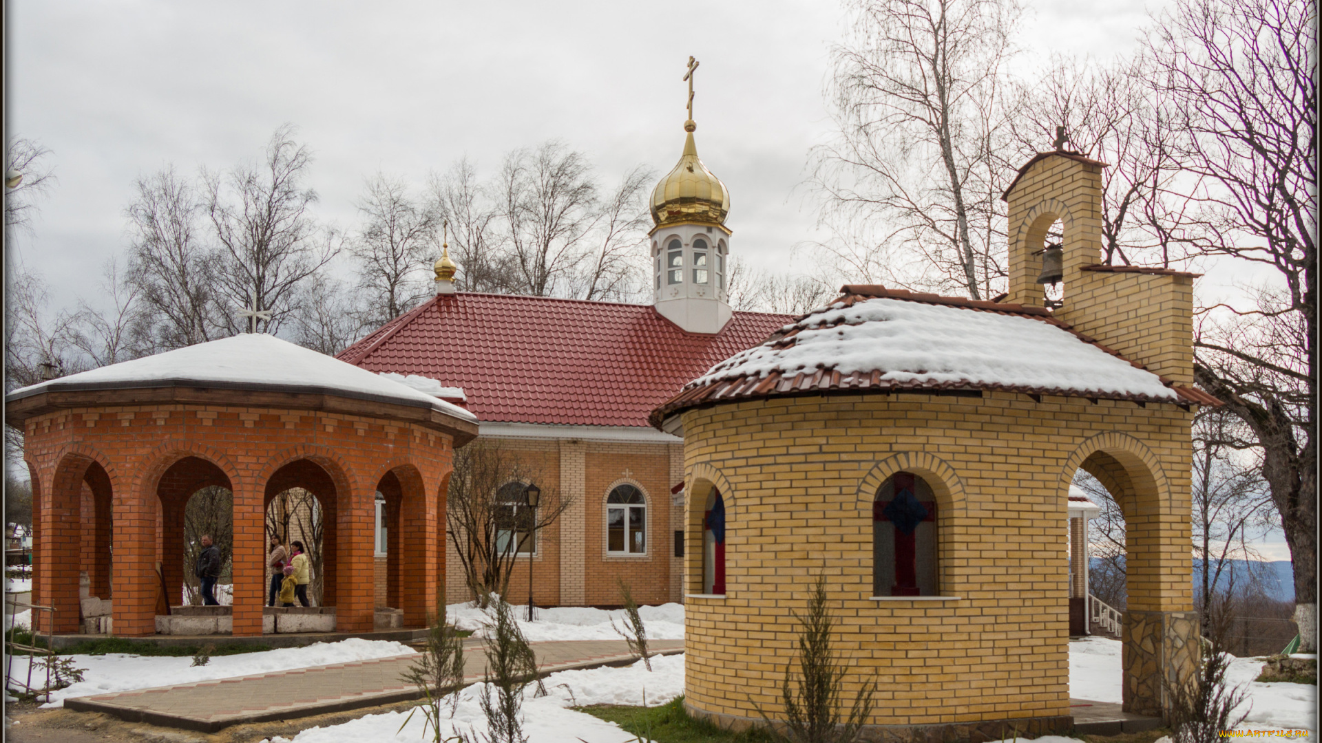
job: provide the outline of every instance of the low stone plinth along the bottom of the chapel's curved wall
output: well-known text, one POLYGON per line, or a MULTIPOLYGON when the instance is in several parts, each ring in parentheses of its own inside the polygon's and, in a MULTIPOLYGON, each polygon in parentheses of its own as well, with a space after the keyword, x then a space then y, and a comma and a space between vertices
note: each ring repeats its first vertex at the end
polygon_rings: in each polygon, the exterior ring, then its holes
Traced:
MULTIPOLYGON (((699 710, 687 701, 683 709, 690 717, 726 730, 740 731, 767 724, 761 719, 699 710)), ((867 743, 984 743, 1010 738, 1068 735, 1072 730, 1073 717, 1058 715, 939 724, 865 724, 859 739, 867 743)))

